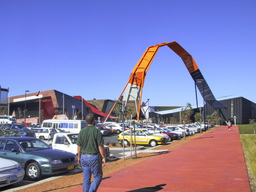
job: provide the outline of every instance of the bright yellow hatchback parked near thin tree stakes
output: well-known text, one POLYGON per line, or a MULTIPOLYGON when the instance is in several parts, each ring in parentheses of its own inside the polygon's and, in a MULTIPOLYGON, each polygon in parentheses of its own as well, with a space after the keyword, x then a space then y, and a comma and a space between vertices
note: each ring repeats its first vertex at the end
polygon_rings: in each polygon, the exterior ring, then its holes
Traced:
MULTIPOLYGON (((147 130, 143 130, 143 129, 136 129, 135 133, 134 133, 134 130, 132 130, 132 144, 135 143, 135 138, 136 138, 136 144, 149 145, 151 147, 157 146, 158 144, 164 144, 166 142, 166 137, 151 134, 147 130)), ((118 135, 118 142, 121 145, 123 145, 122 143, 123 133, 120 133, 118 135)), ((124 145, 130 145, 130 142, 131 142, 130 130, 126 130, 124 131, 124 145)))

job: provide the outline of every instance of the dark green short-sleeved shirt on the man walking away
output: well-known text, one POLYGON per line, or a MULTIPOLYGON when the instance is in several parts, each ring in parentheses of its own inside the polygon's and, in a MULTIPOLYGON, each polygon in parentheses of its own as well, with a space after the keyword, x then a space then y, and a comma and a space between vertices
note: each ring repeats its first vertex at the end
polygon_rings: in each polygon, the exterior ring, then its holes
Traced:
POLYGON ((103 136, 95 126, 86 126, 80 130, 76 144, 82 153, 100 153, 98 146, 104 144, 103 136))

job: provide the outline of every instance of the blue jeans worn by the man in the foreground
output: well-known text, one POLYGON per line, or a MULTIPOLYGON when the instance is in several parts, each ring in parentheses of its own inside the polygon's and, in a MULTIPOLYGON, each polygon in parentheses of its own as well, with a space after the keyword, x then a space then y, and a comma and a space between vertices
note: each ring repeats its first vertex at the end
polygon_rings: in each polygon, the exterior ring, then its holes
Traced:
POLYGON ((100 154, 86 156, 81 155, 81 165, 83 168, 83 192, 96 192, 102 180, 102 159, 100 154), (91 177, 94 180, 91 184, 91 177))

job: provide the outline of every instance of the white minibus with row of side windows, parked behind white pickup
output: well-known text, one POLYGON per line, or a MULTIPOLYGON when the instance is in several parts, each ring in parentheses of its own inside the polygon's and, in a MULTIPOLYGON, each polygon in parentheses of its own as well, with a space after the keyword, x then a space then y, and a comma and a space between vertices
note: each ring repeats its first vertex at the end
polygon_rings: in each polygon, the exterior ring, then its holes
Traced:
POLYGON ((57 120, 48 119, 42 123, 42 128, 60 128, 71 133, 79 133, 87 125, 85 120, 57 120))

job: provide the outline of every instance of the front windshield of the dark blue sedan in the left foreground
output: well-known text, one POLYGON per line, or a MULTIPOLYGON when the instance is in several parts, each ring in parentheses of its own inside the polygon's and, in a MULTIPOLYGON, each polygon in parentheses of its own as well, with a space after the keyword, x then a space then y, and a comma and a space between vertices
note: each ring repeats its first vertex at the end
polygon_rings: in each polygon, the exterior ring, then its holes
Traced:
POLYGON ((44 150, 44 149, 51 149, 51 146, 46 144, 45 142, 39 139, 29 139, 29 140, 20 140, 18 141, 22 148, 25 151, 36 151, 36 150, 44 150))

